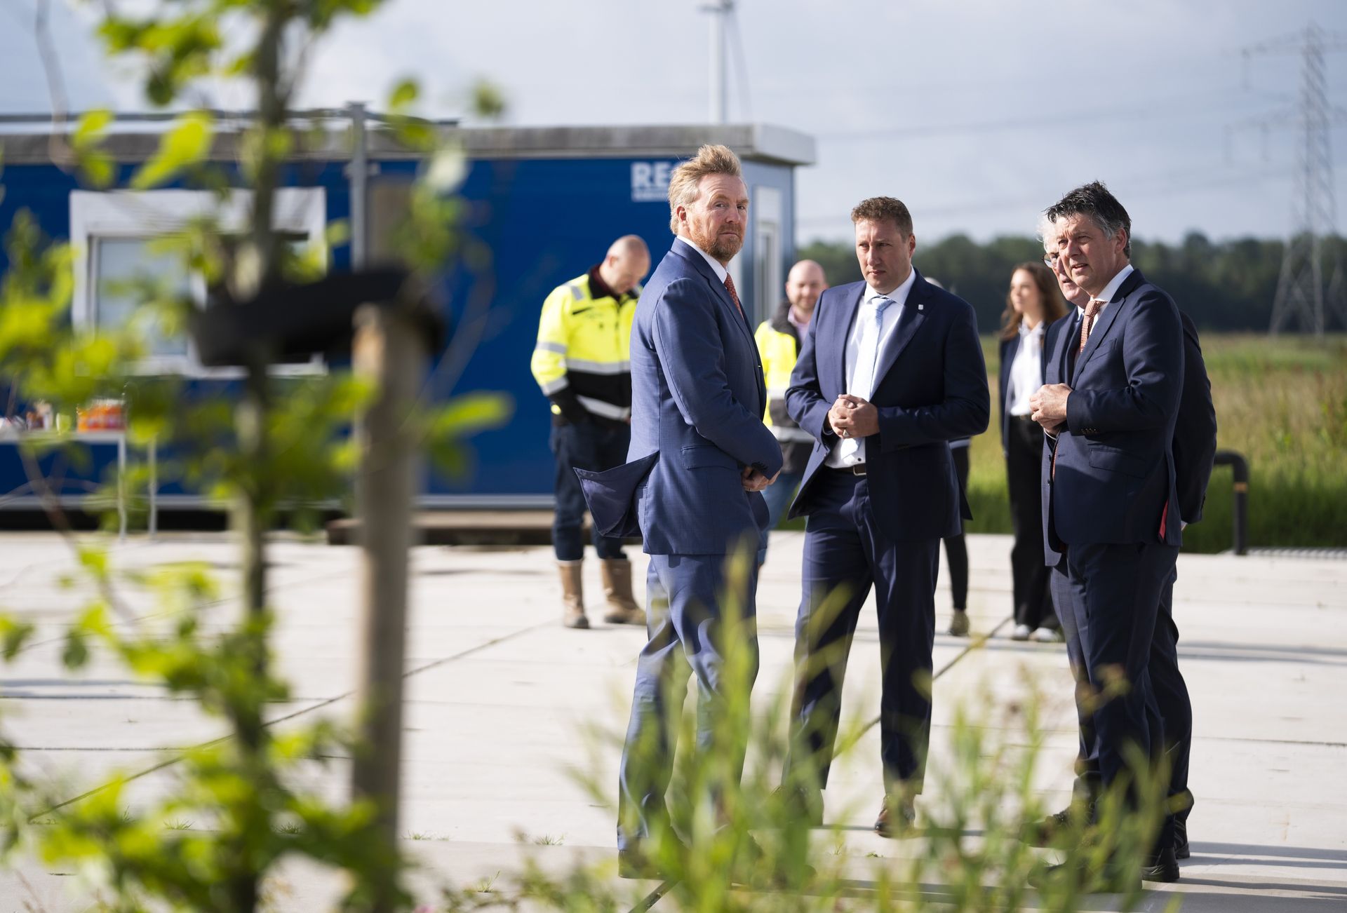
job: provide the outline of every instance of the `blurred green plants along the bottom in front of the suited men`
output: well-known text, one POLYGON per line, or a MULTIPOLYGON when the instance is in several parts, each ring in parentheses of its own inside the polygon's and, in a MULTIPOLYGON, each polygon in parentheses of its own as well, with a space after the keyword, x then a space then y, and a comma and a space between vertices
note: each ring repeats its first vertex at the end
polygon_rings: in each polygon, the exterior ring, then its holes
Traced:
MULTIPOLYGON (((733 556, 727 593, 742 593, 752 549, 733 556)), ((791 681, 750 689, 757 668, 756 646, 735 606, 722 602, 725 667, 721 699, 706 702, 699 689, 695 712, 675 722, 678 743, 692 746, 699 724, 709 720, 714 750, 678 753, 674 780, 665 793, 669 827, 643 843, 657 860, 663 878, 618 881, 612 856, 594 862, 544 865, 528 848, 525 865, 492 879, 446 889, 443 913, 470 910, 626 910, 657 909, 698 913, 785 913, 878 910, 916 913, 951 910, 991 913, 1044 909, 1061 913, 1099 909, 1088 894, 1122 887, 1109 909, 1136 909, 1142 900, 1140 865, 1162 809, 1165 772, 1148 770, 1133 757, 1140 809, 1127 811, 1119 789, 1099 803, 1096 824, 1082 817, 1060 832, 1047 851, 1033 850, 1018 836, 1026 823, 1047 811, 1037 784, 1051 719, 1075 710, 1053 704, 1037 689, 1028 671, 1012 687, 998 683, 960 688, 951 724, 939 730, 927 764, 925 792, 917 799, 917 824, 900 839, 881 842, 882 852, 865 852, 872 838, 851 836, 849 821, 867 820, 873 805, 846 805, 830 790, 824 824, 810 827, 777 792, 791 745, 791 681), (770 695, 762 699, 762 695, 770 695), (742 778, 738 761, 746 757, 742 778), (1048 873, 1051 863, 1080 863, 1079 874, 1048 873), (1121 873, 1122 885, 1114 873, 1121 873), (1105 883, 1106 879, 1113 882, 1105 883), (1040 887, 1030 887, 1030 879, 1040 887)), ((873 649, 858 641, 853 649, 873 649)), ((975 648, 977 649, 977 648, 975 648)), ((684 680, 665 684, 664 702, 683 707, 684 680)), ((1051 683, 1057 695, 1070 689, 1051 683)), ((938 700, 946 700, 938 692, 938 700)), ((1102 698, 1100 698, 1102 699, 1102 698)), ((1070 698, 1067 698, 1070 702, 1070 698)), ((877 700, 866 702, 877 704, 877 700)), ((876 719, 843 719, 839 724, 838 768, 854 768, 853 754, 874 750, 876 719)), ((625 743, 625 723, 595 723, 590 754, 572 770, 594 804, 612 809, 612 758, 625 743)), ((649 745, 626 745, 640 758, 649 745)), ((869 765, 867 765, 869 766, 869 765)), ((1061 784, 1065 788, 1067 784, 1061 784)), ((640 793, 638 786, 633 786, 640 793)), ((873 784, 873 796, 882 793, 873 784)), ((618 809, 612 809, 618 813, 618 809)), ((1169 909, 1173 909, 1171 905, 1169 909)))

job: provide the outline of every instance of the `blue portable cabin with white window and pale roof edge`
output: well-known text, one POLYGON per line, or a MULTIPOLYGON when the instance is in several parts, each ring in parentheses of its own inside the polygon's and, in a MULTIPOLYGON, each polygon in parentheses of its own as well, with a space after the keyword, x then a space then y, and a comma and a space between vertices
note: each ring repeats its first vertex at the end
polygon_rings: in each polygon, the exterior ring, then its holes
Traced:
MULTIPOLYGON (((341 112, 333 112, 342 116, 341 112)), ((221 124, 224 127, 224 123, 221 124)), ((664 127, 558 127, 439 129, 466 152, 461 195, 465 226, 489 252, 489 263, 458 268, 445 279, 445 300, 458 329, 454 364, 443 364, 432 377, 436 396, 466 391, 501 391, 515 401, 504 428, 474 440, 478 462, 467 479, 450 479, 428 470, 422 506, 550 506, 552 458, 547 447, 548 403, 529 373, 537 318, 547 294, 594 265, 607 245, 622 234, 645 238, 655 261, 668 249, 665 197, 668 174, 680 158, 703 143, 723 143, 744 162, 749 184, 750 230, 731 265, 750 319, 765 319, 780 300, 785 271, 793 257, 795 168, 814 162, 814 140, 770 125, 664 125, 664 127), (475 345, 463 353, 465 337, 475 345)), ((360 132, 357 131, 357 136, 360 132)), ((209 195, 190 187, 100 193, 81 189, 75 178, 50 160, 47 133, 0 135, 4 172, 0 182, 0 230, 15 213, 28 209, 54 238, 75 245, 71 319, 106 325, 125 319, 129 302, 117 284, 145 269, 168 271, 156 260, 150 240, 174 230, 203 211, 209 195)), ((119 163, 119 187, 135 167, 156 149, 152 131, 119 124, 106 148, 119 163)), ((364 135, 364 156, 352 152, 343 129, 333 129, 318 148, 296 154, 277 198, 277 226, 299 241, 319 244, 327 226, 350 219, 353 194, 362 194, 369 260, 391 250, 392 228, 405 205, 405 189, 422 162, 380 129, 364 135), (352 168, 353 158, 366 162, 365 179, 352 168), (364 187, 361 184, 364 183, 364 187)), ((213 159, 234 162, 237 133, 221 129, 213 159)), ((240 193, 225 206, 222 222, 241 221, 247 198, 240 193)), ((361 207, 357 206, 356 211, 361 207)), ((330 250, 330 265, 352 263, 352 245, 330 250)), ((0 271, 8 263, 0 252, 0 271)), ((180 272, 180 271, 179 271, 180 272)), ((203 300, 203 281, 176 276, 185 291, 203 300)), ((228 391, 229 372, 203 369, 185 339, 154 341, 145 370, 179 372, 197 384, 228 391)), ((280 366, 288 373, 321 372, 321 360, 280 366)), ((89 489, 86 479, 106 471, 112 454, 94 452, 93 466, 67 474, 63 500, 78 506, 89 489)), ((12 446, 0 444, 0 509, 32 509, 36 500, 23 494, 23 467, 12 446), (18 494, 13 494, 18 493, 18 494)), ((168 486, 160 506, 199 508, 193 492, 168 486)))

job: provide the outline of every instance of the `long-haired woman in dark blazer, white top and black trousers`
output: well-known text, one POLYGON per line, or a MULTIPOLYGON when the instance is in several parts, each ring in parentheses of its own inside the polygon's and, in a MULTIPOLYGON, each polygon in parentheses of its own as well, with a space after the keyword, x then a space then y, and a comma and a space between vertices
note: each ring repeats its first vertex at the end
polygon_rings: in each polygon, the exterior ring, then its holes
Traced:
POLYGON ((1021 263, 1010 275, 1006 310, 1001 315, 1001 451, 1006 459, 1014 547, 1010 574, 1017 641, 1060 641, 1061 632, 1043 563, 1043 428, 1029 419, 1029 396, 1043 385, 1044 333, 1067 312, 1052 271, 1041 263, 1021 263))

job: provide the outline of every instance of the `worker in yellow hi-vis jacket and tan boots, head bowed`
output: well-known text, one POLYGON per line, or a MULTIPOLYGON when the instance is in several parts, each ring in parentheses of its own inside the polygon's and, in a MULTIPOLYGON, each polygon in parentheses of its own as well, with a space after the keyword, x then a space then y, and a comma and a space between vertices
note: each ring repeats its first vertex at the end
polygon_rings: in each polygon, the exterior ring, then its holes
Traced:
MULTIPOLYGON (((632 439, 632 318, 651 252, 634 234, 618 238, 603 261, 558 285, 543 302, 533 380, 552 401, 552 455, 556 458, 552 551, 562 578, 562 621, 589 628, 581 563, 585 496, 575 469, 605 470, 626 462, 632 439)), ((622 540, 594 531, 594 551, 607 610, 603 621, 644 625, 632 594, 632 564, 622 540)))

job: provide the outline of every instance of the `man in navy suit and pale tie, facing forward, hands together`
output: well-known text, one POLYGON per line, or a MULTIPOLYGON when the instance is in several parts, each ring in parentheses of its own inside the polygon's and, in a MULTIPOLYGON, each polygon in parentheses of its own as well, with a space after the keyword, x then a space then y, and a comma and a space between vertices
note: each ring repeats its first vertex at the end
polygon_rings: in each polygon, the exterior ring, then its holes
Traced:
POLYGON ((874 587, 885 788, 874 827, 897 836, 925 766, 940 540, 970 517, 948 442, 986 430, 990 395, 973 308, 912 267, 908 207, 876 197, 851 221, 865 279, 823 292, 787 392, 815 444, 791 508, 808 525, 783 794, 820 820, 847 652, 874 587))

